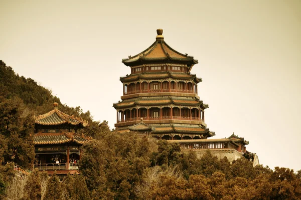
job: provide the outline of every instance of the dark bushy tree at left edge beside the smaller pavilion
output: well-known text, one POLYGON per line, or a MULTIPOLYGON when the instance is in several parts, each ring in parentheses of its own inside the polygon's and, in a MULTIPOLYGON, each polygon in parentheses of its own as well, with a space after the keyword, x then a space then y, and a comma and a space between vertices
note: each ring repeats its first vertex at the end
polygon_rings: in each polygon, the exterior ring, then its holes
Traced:
POLYGON ((22 100, 0 96, 0 140, 4 141, 1 145, 5 148, 1 150, 3 162, 15 162, 25 168, 32 166, 35 158, 33 132, 33 113, 22 100))

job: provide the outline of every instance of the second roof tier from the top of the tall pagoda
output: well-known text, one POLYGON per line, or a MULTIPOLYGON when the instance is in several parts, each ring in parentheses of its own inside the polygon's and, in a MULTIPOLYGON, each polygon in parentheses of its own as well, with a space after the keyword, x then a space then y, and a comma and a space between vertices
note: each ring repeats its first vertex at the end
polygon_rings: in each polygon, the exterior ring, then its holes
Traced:
POLYGON ((171 71, 162 71, 162 72, 143 72, 139 74, 130 74, 124 77, 120 77, 121 82, 135 81, 139 79, 166 79, 174 78, 179 80, 191 80, 194 79, 195 82, 199 83, 202 81, 202 78, 198 78, 196 74, 191 74, 187 72, 171 72, 171 71))

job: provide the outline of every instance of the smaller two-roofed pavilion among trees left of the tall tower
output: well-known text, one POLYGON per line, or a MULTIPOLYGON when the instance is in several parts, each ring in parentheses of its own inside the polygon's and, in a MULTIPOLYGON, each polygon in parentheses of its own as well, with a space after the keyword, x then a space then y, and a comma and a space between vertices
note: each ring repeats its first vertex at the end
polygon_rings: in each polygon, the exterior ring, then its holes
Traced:
POLYGON ((77 173, 78 160, 82 156, 82 145, 90 138, 78 134, 77 130, 88 125, 88 121, 70 116, 58 109, 39 115, 35 119, 35 153, 34 168, 46 170, 52 174, 77 173))

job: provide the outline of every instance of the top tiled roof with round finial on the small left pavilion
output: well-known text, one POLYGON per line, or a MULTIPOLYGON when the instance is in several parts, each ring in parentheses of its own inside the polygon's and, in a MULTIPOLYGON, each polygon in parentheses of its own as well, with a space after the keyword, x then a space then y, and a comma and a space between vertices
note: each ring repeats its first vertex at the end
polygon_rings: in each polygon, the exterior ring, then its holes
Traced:
POLYGON ((58 103, 53 103, 54 109, 39 115, 35 119, 36 124, 41 125, 60 125, 60 124, 71 124, 71 125, 79 125, 82 127, 86 127, 88 125, 88 121, 83 120, 80 117, 70 116, 60 111, 57 108, 58 103))

